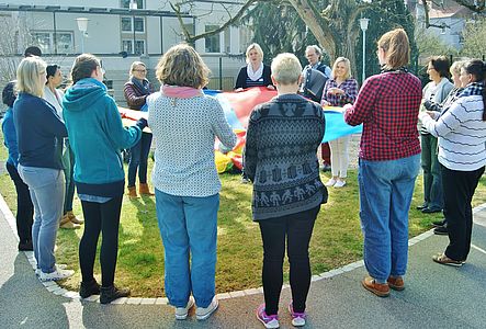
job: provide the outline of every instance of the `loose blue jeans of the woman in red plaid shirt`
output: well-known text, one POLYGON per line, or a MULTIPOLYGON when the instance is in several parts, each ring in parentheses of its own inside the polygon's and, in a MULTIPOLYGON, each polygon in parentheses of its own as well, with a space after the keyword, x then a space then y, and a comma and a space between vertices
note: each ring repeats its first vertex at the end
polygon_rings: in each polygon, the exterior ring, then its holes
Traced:
POLYGON ((360 218, 363 258, 378 283, 404 275, 408 258, 408 211, 420 155, 391 161, 360 159, 360 218))

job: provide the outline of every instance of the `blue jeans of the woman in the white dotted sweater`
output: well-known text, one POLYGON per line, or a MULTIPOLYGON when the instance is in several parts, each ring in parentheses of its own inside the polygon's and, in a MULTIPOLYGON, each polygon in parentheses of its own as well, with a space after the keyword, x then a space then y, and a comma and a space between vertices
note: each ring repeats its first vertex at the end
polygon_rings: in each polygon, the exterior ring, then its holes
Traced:
POLYGON ((192 292, 197 307, 207 307, 215 295, 219 194, 176 196, 156 189, 156 207, 170 305, 185 307, 192 292))

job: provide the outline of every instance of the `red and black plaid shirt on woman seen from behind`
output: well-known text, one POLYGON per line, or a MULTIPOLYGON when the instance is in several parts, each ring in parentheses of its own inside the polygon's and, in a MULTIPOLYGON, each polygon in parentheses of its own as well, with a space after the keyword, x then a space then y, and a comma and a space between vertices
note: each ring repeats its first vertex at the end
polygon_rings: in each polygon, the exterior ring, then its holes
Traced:
POLYGON ((420 154, 417 132, 422 90, 420 80, 397 70, 364 81, 354 105, 344 106, 344 121, 363 123, 360 158, 396 160, 420 154))

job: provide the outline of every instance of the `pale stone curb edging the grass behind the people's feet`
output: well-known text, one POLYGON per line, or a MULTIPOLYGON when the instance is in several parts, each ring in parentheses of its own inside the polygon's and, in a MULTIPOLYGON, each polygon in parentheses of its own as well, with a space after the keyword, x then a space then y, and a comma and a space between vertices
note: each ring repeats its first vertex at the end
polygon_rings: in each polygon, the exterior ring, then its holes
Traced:
MULTIPOLYGON (((473 214, 476 214, 483 209, 486 209, 486 203, 482 204, 473 209, 473 214)), ((12 229, 12 232, 16 240, 19 240, 19 237, 16 236, 16 224, 15 224, 15 217, 13 216, 12 212, 10 211, 9 206, 7 205, 5 201, 3 200, 3 196, 0 194, 0 212, 3 214, 4 218, 9 223, 10 228, 12 229)), ((408 246, 414 246, 430 236, 433 236, 433 228, 425 231, 411 239, 408 240, 408 246)), ((33 251, 23 251, 25 254, 27 261, 31 263, 32 269, 35 270, 36 263, 34 259, 34 252, 33 251)), ((321 274, 315 274, 310 277, 312 282, 330 279, 337 275, 344 274, 347 272, 350 272, 352 270, 359 269, 364 265, 364 261, 355 261, 353 263, 347 264, 344 266, 330 270, 328 272, 324 272, 321 274)), ((99 295, 92 295, 88 298, 81 299, 79 294, 77 292, 70 292, 68 290, 63 288, 59 286, 56 282, 49 281, 49 282, 41 282, 42 285, 45 286, 45 288, 57 296, 63 296, 70 299, 77 299, 77 300, 86 300, 86 302, 94 302, 100 303, 100 296, 99 295)), ((290 284, 285 283, 282 286, 282 290, 290 288, 290 284)), ((256 295, 256 294, 263 294, 263 287, 258 288, 248 288, 244 291, 236 291, 236 292, 229 292, 229 293, 222 293, 217 294, 216 297, 219 300, 223 299, 229 299, 229 298, 237 298, 242 296, 249 296, 249 295, 256 295)), ((157 297, 157 298, 143 298, 143 297, 123 297, 118 298, 111 304, 114 305, 121 305, 121 304, 129 304, 129 305, 169 305, 169 300, 166 297, 157 297)))

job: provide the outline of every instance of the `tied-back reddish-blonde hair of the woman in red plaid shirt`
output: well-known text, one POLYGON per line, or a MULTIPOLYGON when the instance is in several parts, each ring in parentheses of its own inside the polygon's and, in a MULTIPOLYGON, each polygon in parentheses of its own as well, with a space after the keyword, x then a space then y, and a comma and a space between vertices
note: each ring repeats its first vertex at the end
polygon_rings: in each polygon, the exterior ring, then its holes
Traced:
POLYGON ((397 69, 410 60, 410 45, 404 29, 386 32, 378 39, 378 47, 386 53, 385 69, 397 69))

